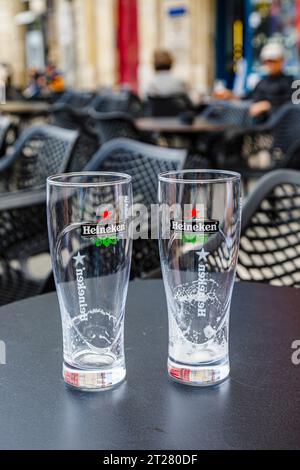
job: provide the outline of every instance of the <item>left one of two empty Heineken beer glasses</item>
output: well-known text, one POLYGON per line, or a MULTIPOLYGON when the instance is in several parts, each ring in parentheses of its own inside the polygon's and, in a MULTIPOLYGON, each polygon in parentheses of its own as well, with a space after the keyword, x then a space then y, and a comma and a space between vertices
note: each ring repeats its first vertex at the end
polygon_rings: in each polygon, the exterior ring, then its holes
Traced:
POLYGON ((131 177, 69 173, 47 180, 48 232, 63 331, 63 377, 81 390, 126 375, 124 310, 131 177))

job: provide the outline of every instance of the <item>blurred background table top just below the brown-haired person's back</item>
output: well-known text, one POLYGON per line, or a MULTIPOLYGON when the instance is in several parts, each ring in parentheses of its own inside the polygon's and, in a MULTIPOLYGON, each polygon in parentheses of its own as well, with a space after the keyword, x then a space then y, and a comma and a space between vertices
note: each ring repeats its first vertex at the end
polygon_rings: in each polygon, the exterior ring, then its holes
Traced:
POLYGON ((146 117, 135 120, 136 127, 141 131, 159 132, 162 134, 195 134, 200 132, 216 132, 228 129, 228 124, 214 124, 203 118, 196 118, 192 124, 184 124, 176 117, 146 117))

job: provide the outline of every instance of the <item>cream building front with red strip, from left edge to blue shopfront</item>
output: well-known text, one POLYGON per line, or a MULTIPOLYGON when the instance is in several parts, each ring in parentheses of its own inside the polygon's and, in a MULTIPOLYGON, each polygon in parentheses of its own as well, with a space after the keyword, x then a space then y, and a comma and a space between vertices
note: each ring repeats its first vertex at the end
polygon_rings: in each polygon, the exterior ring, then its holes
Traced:
POLYGON ((0 61, 13 66, 17 85, 28 68, 51 61, 69 86, 128 82, 143 91, 153 51, 165 47, 175 56, 175 73, 206 89, 214 77, 214 6, 214 0, 0 0, 0 61))

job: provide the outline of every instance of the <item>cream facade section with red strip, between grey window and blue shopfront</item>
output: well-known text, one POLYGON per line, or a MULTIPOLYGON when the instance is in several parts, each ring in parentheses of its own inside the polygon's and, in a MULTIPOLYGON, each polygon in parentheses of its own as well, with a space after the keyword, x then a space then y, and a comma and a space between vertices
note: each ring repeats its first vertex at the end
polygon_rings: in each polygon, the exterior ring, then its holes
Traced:
POLYGON ((213 80, 214 0, 55 0, 53 11, 56 61, 73 86, 121 82, 143 92, 158 47, 172 51, 175 73, 192 87, 213 80))

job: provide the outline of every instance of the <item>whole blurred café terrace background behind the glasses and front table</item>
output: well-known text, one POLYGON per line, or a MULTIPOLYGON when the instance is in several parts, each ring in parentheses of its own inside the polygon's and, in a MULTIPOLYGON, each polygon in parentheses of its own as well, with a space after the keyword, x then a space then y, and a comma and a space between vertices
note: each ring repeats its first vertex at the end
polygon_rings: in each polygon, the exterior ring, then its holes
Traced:
MULTIPOLYGON (((54 289, 46 178, 242 174, 239 280, 300 286, 299 0, 0 0, 0 304, 54 289)), ((136 240, 131 278, 160 276, 136 240)))

